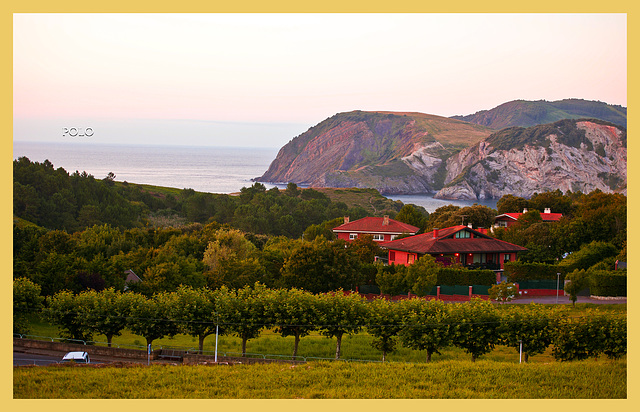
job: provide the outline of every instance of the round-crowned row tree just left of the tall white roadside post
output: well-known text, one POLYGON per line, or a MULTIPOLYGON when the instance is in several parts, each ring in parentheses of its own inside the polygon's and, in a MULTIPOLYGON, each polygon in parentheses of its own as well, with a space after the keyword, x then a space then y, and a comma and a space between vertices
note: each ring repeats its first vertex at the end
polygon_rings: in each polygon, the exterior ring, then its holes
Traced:
POLYGON ((182 332, 198 338, 198 350, 202 353, 204 339, 216 333, 215 295, 208 288, 194 289, 180 285, 174 292, 175 304, 170 317, 180 324, 182 332))

